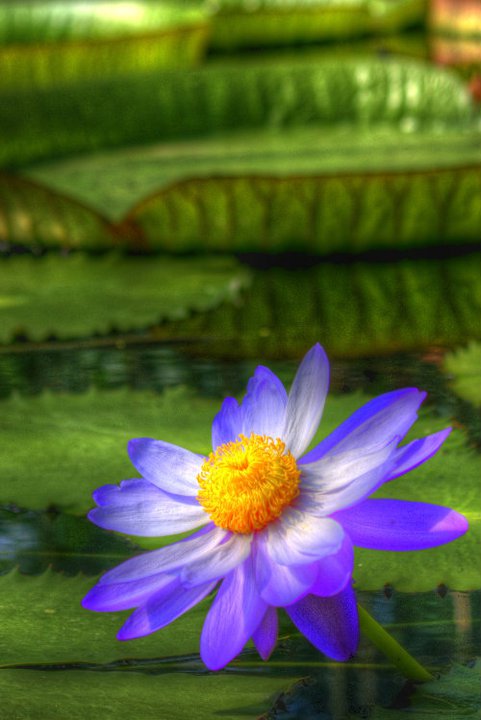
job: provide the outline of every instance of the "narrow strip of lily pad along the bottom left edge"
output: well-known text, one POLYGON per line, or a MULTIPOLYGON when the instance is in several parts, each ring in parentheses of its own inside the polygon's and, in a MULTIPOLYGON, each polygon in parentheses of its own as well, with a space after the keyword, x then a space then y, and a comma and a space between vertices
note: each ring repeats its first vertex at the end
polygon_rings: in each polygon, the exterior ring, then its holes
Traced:
POLYGON ((15 720, 254 720, 288 678, 0 671, 5 717, 15 720), (215 713, 215 715, 213 715, 215 713))

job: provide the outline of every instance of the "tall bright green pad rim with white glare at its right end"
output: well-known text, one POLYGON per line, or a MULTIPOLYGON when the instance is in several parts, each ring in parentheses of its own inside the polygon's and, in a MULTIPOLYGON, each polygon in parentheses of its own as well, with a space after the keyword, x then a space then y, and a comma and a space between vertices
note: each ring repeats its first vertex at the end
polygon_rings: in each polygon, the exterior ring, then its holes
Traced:
MULTIPOLYGON (((0 79, 0 88, 1 79, 0 79)), ((463 82, 407 59, 272 56, 198 70, 123 74, 51 87, 5 87, 0 165, 229 130, 306 125, 420 131, 469 128, 463 82)), ((321 130, 320 130, 321 132, 321 130)))

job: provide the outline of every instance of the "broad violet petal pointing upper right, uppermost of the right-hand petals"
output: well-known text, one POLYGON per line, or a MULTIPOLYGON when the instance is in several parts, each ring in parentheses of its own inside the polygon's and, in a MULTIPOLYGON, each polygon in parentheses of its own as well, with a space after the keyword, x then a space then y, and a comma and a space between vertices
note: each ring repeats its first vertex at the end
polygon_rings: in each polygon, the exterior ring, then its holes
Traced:
POLYGON ((426 393, 405 388, 380 395, 356 410, 330 435, 302 458, 312 463, 326 453, 383 445, 398 436, 403 438, 417 418, 417 410, 426 393))

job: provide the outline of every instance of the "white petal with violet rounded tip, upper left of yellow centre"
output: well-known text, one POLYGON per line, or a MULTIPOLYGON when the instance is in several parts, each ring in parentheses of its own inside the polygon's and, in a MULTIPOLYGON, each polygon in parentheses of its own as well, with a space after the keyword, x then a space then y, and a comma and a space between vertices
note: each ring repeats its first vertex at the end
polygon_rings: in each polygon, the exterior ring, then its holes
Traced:
POLYGON ((136 470, 149 482, 175 495, 197 495, 202 458, 184 448, 152 440, 137 438, 128 444, 130 460, 136 470))

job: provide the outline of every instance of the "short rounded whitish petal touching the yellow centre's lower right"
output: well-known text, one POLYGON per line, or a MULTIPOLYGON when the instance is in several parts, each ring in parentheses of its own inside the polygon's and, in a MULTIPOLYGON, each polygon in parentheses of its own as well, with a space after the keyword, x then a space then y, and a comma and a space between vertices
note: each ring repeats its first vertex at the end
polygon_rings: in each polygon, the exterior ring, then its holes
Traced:
POLYGON ((330 518, 316 518, 293 508, 266 529, 270 557, 280 565, 305 565, 337 552, 344 531, 330 518))

